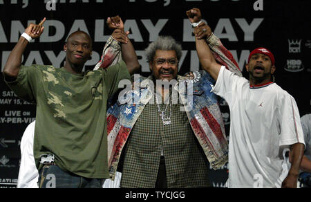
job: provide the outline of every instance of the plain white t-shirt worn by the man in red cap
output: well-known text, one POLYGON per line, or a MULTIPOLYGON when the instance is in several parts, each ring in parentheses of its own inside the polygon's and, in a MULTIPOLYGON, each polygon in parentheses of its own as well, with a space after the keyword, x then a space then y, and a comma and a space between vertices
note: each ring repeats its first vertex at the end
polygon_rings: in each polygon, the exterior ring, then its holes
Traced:
POLYGON ((294 98, 272 82, 250 87, 225 66, 213 91, 230 108, 228 187, 281 187, 288 174, 283 149, 304 144, 294 98))

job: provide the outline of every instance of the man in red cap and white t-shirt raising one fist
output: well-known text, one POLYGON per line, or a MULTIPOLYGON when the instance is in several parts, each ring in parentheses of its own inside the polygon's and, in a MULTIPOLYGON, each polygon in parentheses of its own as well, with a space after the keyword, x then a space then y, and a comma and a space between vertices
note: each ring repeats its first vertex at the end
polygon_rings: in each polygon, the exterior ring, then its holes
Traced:
MULTIPOLYGON (((190 21, 200 15, 196 9, 191 12, 190 21)), ((248 81, 215 61, 206 41, 200 39, 208 30, 204 23, 194 28, 196 49, 202 68, 216 80, 212 91, 229 104, 228 186, 296 187, 305 147, 303 131, 294 98, 271 82, 276 70, 273 54, 256 48, 249 55, 248 81), (283 159, 285 148, 292 154, 289 171, 283 159)))

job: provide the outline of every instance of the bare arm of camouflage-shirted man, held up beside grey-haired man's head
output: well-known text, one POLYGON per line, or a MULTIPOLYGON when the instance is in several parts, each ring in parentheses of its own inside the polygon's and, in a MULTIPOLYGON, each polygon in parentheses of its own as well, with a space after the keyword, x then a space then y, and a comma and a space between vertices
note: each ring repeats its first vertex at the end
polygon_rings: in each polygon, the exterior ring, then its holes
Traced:
POLYGON ((127 44, 122 44, 122 59, 131 75, 139 71, 140 64, 131 40, 127 44))

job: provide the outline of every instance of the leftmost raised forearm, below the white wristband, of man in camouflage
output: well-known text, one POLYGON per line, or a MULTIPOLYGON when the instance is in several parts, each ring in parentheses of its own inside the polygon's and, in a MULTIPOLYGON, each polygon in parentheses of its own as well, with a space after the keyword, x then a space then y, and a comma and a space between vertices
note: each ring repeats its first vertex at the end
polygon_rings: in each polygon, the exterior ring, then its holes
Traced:
POLYGON ((25 38, 19 38, 19 42, 17 42, 16 46, 13 48, 8 57, 6 65, 3 68, 3 74, 6 77, 16 78, 19 74, 23 51, 26 49, 28 43, 29 42, 25 38))

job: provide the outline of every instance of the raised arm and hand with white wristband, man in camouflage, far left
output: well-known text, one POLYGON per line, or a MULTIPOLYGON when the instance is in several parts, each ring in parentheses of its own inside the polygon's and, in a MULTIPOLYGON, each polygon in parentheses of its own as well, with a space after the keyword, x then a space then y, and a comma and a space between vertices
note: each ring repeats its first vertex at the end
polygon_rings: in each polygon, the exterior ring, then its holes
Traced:
MULTIPOLYGON (((31 37, 31 39, 37 39, 44 32, 44 22, 46 18, 44 18, 38 25, 30 24, 28 28, 26 28, 25 33, 31 37)), ((24 50, 29 44, 28 36, 21 36, 19 38, 19 42, 15 45, 12 52, 10 53, 6 65, 3 68, 3 75, 7 81, 15 80, 17 75, 19 74, 19 69, 21 67, 21 58, 24 50)), ((29 39, 30 40, 30 39, 29 39)))

